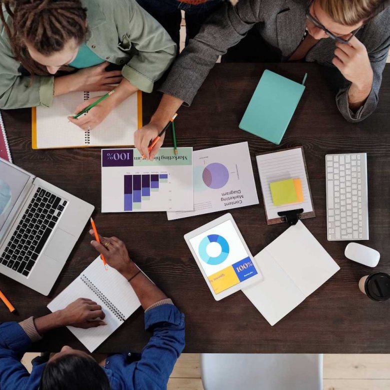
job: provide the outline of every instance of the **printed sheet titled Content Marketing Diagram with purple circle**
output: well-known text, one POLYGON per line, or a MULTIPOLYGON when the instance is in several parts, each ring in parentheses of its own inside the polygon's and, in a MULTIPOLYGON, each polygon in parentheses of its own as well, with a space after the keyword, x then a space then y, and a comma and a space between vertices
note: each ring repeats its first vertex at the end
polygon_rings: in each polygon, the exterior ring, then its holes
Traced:
POLYGON ((169 220, 258 203, 247 142, 193 152, 194 205, 169 220))

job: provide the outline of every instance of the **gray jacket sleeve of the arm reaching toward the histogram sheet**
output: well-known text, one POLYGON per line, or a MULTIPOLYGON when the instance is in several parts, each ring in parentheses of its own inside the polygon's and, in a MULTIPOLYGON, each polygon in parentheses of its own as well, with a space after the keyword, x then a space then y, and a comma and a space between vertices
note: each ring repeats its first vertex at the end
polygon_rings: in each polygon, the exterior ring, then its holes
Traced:
POLYGON ((190 105, 218 56, 261 21, 260 4, 259 0, 246 0, 238 1, 235 6, 222 5, 189 41, 159 90, 190 105))

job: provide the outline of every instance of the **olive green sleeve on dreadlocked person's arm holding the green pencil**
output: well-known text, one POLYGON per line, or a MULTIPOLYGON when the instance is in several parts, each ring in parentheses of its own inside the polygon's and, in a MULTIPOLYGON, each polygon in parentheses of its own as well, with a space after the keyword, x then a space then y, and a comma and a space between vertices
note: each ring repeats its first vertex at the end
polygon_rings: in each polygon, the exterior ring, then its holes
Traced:
POLYGON ((126 34, 135 51, 123 67, 123 76, 144 92, 151 92, 158 80, 172 63, 176 44, 164 28, 135 1, 129 1, 129 20, 126 34))

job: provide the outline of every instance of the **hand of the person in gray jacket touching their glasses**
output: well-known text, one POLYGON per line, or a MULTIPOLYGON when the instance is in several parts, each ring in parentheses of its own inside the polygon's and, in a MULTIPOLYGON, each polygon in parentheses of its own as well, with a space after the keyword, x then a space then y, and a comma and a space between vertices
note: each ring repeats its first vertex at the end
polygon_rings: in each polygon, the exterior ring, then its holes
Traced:
POLYGON ((341 74, 360 89, 371 90, 372 68, 367 49, 355 36, 348 43, 336 42, 332 63, 341 74))

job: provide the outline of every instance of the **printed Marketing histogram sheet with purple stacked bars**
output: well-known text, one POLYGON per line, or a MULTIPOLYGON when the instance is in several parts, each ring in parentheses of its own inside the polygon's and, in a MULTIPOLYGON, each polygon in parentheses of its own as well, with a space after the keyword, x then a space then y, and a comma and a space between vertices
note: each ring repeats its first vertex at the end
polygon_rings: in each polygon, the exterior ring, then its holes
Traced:
POLYGON ((192 147, 160 148, 153 161, 137 149, 101 150, 101 212, 193 209, 192 147))

